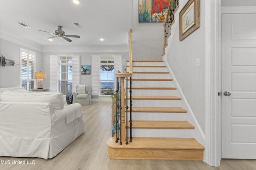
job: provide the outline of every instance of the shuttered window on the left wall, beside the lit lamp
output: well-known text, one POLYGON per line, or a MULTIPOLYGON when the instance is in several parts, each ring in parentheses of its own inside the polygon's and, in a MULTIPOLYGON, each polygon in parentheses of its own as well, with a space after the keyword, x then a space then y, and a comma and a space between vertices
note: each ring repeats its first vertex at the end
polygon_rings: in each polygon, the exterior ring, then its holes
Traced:
POLYGON ((36 53, 25 49, 20 49, 20 86, 28 91, 35 88, 36 53))

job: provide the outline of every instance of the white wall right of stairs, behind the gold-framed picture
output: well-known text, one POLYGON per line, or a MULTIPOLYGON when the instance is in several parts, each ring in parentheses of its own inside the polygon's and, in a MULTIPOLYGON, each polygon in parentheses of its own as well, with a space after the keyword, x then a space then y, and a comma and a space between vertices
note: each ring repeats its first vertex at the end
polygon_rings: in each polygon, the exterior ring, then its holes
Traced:
MULTIPOLYGON (((167 63, 170 65, 202 130, 205 130, 205 25, 204 0, 200 0, 200 27, 179 41, 179 12, 187 0, 180 0, 175 14, 176 29, 168 39, 167 63), (200 66, 196 67, 196 59, 200 66)), ((205 131, 204 131, 205 132, 205 131)))

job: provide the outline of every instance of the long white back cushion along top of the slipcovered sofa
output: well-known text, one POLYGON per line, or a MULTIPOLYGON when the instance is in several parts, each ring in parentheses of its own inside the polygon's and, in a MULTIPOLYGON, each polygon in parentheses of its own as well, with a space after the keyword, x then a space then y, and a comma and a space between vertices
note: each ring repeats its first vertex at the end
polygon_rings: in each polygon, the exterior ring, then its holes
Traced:
POLYGON ((62 109, 65 105, 61 92, 3 92, 2 102, 50 102, 53 109, 62 109))

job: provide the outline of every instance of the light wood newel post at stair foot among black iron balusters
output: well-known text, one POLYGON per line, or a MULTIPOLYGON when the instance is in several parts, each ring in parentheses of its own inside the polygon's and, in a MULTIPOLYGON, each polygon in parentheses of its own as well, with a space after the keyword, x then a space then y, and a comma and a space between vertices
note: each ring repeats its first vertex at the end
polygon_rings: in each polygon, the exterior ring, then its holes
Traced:
POLYGON ((125 134, 125 99, 124 99, 124 96, 125 96, 125 91, 124 91, 124 77, 121 78, 121 91, 122 91, 122 94, 121 94, 121 106, 122 106, 122 111, 121 111, 121 127, 122 127, 122 136, 121 136, 121 141, 124 142, 126 139, 126 134, 125 134))

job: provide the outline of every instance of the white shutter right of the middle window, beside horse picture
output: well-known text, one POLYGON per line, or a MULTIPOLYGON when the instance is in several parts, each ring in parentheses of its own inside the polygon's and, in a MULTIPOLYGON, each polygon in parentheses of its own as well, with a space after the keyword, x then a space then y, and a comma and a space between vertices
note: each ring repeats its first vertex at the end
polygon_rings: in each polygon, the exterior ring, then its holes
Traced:
POLYGON ((80 84, 80 56, 73 56, 73 67, 72 67, 72 92, 76 92, 76 85, 80 84))

